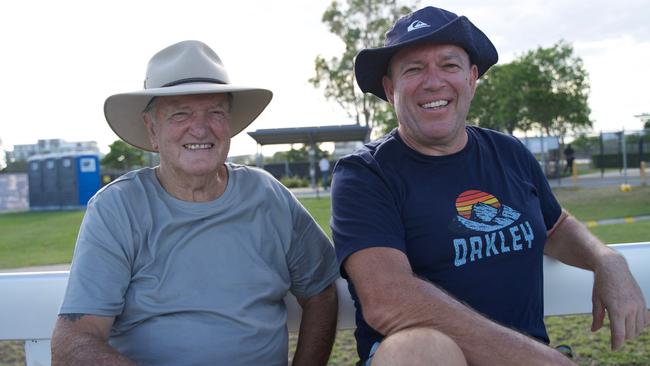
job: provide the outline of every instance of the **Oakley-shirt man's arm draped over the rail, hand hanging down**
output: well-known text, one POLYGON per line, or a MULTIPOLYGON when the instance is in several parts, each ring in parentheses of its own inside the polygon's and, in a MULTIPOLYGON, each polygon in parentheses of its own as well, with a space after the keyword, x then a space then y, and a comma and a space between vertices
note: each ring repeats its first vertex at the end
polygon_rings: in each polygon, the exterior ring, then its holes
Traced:
POLYGON ((609 314, 612 349, 638 337, 650 315, 639 285, 625 258, 608 248, 573 216, 563 211, 549 232, 545 254, 574 267, 594 272, 592 331, 600 329, 609 314))

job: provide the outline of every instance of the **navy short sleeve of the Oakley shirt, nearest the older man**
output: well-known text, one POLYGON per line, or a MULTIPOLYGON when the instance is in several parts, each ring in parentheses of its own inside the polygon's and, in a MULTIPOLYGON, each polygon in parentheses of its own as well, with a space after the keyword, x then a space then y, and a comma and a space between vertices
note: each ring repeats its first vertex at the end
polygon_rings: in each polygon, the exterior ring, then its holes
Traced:
MULTIPOLYGON (((369 247, 406 252, 397 193, 370 156, 340 160, 332 180, 332 235, 341 268, 351 254, 369 247)), ((345 277, 345 271, 341 271, 345 277)))

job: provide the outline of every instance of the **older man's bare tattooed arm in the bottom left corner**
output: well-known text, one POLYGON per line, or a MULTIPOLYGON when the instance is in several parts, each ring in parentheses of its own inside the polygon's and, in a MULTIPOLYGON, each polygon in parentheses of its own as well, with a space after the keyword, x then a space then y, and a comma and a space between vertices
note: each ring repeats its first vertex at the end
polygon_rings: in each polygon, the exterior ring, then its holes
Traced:
POLYGON ((52 334, 52 365, 135 365, 108 344, 115 317, 59 315, 52 334))

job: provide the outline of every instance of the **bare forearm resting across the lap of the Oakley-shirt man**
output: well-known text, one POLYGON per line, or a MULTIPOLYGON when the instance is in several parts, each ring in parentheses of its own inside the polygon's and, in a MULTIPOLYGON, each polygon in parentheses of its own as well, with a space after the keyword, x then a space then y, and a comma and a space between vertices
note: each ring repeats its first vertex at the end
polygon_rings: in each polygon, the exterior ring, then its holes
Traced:
POLYGON ((471 365, 573 365, 554 349, 498 325, 417 278, 399 250, 376 247, 345 261, 363 316, 379 333, 431 327, 451 337, 471 365))

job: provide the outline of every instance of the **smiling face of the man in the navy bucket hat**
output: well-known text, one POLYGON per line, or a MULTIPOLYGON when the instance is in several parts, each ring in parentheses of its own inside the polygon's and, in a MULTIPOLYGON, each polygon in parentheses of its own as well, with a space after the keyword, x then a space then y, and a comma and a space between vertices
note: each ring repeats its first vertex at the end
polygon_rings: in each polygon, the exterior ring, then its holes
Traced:
POLYGON ((384 76, 384 91, 405 142, 429 155, 462 149, 478 77, 465 50, 453 45, 411 46, 393 56, 390 74, 384 76))

